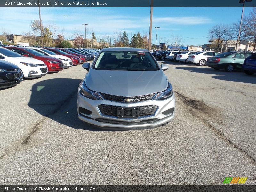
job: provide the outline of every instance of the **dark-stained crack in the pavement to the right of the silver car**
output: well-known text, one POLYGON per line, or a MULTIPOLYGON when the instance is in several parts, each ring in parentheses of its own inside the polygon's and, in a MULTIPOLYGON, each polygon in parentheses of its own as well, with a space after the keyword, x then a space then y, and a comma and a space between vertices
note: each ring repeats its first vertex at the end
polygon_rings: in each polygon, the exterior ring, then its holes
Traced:
POLYGON ((218 123, 225 125, 223 122, 221 122, 219 120, 221 118, 221 116, 220 116, 220 111, 218 109, 207 106, 206 104, 204 104, 204 101, 190 99, 190 98, 182 95, 179 91, 175 91, 175 93, 179 97, 179 99, 181 101, 183 101, 183 103, 189 107, 186 109, 189 110, 189 112, 192 116, 195 116, 196 118, 200 119, 206 126, 210 127, 215 133, 217 133, 220 136, 220 138, 222 138, 223 140, 226 140, 230 145, 232 145, 234 148, 236 148, 236 149, 240 150, 241 152, 243 152, 244 154, 246 154, 250 159, 252 159, 254 161, 254 163, 256 163, 256 159, 253 158, 252 156, 250 156, 247 151, 238 147, 236 144, 232 143, 232 141, 230 139, 228 139, 227 137, 222 135, 219 130, 217 130, 214 126, 212 126, 209 123, 209 121, 207 121, 207 118, 204 118, 202 116, 202 114, 207 115, 209 119, 213 119, 213 120, 217 121, 218 123), (198 115, 198 114, 200 114, 200 115, 198 115), (218 117, 218 118, 214 118, 214 117, 218 117))

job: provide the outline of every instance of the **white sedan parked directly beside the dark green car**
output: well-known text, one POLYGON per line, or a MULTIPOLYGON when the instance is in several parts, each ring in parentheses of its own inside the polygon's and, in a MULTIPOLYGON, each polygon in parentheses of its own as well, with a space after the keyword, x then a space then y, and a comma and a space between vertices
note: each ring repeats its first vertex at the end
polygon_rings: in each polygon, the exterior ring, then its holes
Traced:
POLYGON ((193 55, 189 55, 187 61, 192 62, 195 65, 199 64, 200 66, 204 66, 208 57, 214 57, 218 54, 220 54, 220 52, 215 52, 215 51, 197 52, 193 55))

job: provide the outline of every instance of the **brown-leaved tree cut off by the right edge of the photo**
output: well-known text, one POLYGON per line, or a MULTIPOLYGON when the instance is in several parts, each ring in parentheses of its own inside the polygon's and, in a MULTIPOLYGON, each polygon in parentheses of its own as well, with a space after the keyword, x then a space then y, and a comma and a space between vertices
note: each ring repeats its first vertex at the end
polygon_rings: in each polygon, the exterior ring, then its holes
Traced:
POLYGON ((245 34, 248 41, 253 41, 253 51, 256 51, 256 8, 254 7, 249 16, 244 17, 245 34))

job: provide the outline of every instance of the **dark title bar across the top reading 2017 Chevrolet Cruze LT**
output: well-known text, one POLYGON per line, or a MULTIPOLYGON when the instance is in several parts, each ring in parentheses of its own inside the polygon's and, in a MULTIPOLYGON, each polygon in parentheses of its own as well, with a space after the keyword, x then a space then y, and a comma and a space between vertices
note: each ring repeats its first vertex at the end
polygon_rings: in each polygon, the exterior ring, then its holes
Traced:
MULTIPOLYGON (((243 1, 243 0, 242 0, 243 1)), ((256 1, 245 7, 256 7, 256 1)), ((39 0, 40 7, 150 7, 150 0, 39 0)), ((154 0, 154 7, 242 7, 239 0, 154 0)), ((38 7, 38 0, 1 0, 0 7, 38 7)))

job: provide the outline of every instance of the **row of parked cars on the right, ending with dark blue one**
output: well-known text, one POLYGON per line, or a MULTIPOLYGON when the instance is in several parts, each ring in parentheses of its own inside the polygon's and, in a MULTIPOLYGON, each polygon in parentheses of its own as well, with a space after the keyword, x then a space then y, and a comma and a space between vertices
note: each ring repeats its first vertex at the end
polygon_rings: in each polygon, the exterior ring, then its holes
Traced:
POLYGON ((249 51, 232 51, 232 52, 215 52, 215 51, 176 51, 168 50, 158 52, 155 57, 164 60, 193 63, 200 66, 212 67, 215 70, 224 69, 232 72, 235 69, 243 70, 246 74, 256 73, 256 52, 249 51), (166 53, 164 57, 164 53, 166 53))

